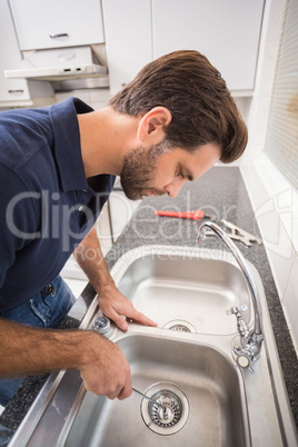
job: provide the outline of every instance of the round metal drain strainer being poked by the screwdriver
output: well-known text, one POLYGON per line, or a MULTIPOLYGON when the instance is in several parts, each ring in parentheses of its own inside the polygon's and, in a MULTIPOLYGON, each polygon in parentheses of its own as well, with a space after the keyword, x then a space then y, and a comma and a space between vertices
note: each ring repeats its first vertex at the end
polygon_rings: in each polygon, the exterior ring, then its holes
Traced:
POLYGON ((150 430, 158 435, 173 435, 185 426, 189 415, 189 404, 177 385, 153 384, 145 394, 157 403, 155 405, 147 399, 141 400, 141 416, 150 430))

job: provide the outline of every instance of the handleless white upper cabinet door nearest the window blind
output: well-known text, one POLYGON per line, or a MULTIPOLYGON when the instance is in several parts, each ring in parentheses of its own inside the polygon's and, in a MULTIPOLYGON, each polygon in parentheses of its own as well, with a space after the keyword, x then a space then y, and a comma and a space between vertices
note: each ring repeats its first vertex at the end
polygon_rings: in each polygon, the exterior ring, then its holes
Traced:
POLYGON ((152 0, 153 58, 197 50, 230 90, 251 90, 264 0, 152 0))

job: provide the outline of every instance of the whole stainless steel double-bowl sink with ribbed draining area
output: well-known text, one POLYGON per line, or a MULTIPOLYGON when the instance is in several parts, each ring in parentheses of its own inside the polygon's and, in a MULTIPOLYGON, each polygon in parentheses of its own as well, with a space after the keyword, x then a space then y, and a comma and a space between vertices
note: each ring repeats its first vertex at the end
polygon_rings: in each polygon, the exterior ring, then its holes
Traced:
MULTIPOLYGON (((252 374, 237 365, 236 318, 226 312, 246 306, 244 318, 250 327, 254 322, 249 292, 231 256, 139 247, 120 258, 111 274, 158 327, 132 322, 122 332, 111 325, 106 336, 127 356, 132 386, 166 399, 167 418, 137 394, 110 401, 87 393, 78 371, 61 371, 50 376, 11 446, 296 447, 261 280, 251 264, 247 267, 259 290, 265 335, 252 374)), ((100 314, 95 299, 81 327, 90 328, 100 314)))

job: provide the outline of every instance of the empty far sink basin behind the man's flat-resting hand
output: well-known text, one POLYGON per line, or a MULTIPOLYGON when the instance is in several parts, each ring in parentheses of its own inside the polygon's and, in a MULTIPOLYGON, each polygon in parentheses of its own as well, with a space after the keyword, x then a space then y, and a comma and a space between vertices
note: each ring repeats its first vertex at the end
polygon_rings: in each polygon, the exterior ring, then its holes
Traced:
MULTIPOLYGON (((251 305, 242 274, 231 255, 173 247, 169 251, 136 249, 131 257, 116 265, 112 276, 119 290, 135 307, 158 322, 159 327, 189 327, 199 334, 227 335, 237 331, 235 318, 226 311, 232 306, 247 306, 249 324, 251 305)), ((252 266, 251 266, 252 268, 252 266)))

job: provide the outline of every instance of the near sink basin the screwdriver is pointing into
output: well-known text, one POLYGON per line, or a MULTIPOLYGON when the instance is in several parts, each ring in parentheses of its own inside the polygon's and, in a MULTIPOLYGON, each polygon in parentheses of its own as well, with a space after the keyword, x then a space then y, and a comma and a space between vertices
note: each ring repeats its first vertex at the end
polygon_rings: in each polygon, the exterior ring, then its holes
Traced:
POLYGON ((183 427, 176 433, 178 424, 168 424, 160 436, 158 419, 150 420, 151 428, 146 425, 142 410, 149 407, 150 411, 151 404, 145 400, 142 409, 138 394, 111 401, 87 393, 66 446, 249 445, 242 379, 222 354, 200 344, 143 335, 127 336, 118 344, 131 365, 137 389, 158 384, 156 388, 165 390, 173 384, 182 390, 187 398, 186 403, 180 399, 179 407, 183 427))

